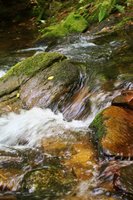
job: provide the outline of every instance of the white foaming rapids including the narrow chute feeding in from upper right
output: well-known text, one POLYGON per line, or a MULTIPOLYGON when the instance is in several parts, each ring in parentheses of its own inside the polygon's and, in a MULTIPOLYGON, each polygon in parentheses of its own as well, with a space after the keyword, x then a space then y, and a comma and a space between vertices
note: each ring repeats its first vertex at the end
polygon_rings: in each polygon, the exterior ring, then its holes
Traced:
MULTIPOLYGON (((96 89, 90 93, 91 112, 84 120, 67 122, 63 114, 50 109, 32 108, 19 114, 9 113, 0 117, 0 148, 4 146, 34 147, 41 145, 42 138, 63 135, 65 131, 87 132, 89 125, 103 108, 110 106, 120 90, 104 92, 96 89)), ((70 109, 71 112, 71 109, 70 109)))

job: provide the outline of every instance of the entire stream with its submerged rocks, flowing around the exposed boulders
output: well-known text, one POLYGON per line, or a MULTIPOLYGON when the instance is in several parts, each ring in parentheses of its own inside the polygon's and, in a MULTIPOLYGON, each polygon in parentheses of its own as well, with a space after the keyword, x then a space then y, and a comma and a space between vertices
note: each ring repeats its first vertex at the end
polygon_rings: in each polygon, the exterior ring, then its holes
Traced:
POLYGON ((113 172, 132 161, 99 159, 88 139, 96 114, 121 91, 133 89, 130 34, 84 33, 50 44, 33 44, 33 33, 22 37, 26 35, 23 30, 10 34, 9 30, 0 32, 1 77, 17 62, 44 51, 62 53, 86 68, 81 71, 74 101, 62 112, 35 107, 0 117, 0 199, 133 199, 132 194, 112 186, 113 172), (88 99, 89 109, 84 103, 88 99), (81 110, 85 111, 78 120, 81 110))

